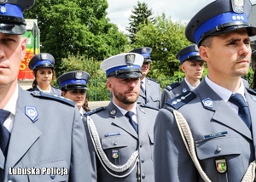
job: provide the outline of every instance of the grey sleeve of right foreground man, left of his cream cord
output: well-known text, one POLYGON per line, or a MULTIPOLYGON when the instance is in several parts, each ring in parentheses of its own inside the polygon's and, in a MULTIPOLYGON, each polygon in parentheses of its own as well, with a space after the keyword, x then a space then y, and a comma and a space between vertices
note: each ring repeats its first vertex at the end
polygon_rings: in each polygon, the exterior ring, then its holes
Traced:
POLYGON ((161 182, 197 181, 197 171, 186 151, 171 111, 161 109, 154 125, 154 178, 161 182))

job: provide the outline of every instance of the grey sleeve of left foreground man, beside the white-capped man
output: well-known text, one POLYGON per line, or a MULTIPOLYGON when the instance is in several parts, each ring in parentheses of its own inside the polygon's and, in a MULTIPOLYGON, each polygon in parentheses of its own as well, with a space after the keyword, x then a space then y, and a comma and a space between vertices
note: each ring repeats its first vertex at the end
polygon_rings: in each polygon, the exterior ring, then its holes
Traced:
POLYGON ((91 165, 87 138, 79 111, 75 109, 72 134, 72 156, 70 166, 70 182, 90 182, 91 165))

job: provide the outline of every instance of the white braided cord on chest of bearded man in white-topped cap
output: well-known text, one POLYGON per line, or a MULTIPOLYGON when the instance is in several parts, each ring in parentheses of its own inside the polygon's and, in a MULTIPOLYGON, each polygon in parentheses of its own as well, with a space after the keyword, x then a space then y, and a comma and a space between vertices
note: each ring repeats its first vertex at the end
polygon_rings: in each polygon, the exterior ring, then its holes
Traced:
POLYGON ((96 155, 98 156, 99 161, 102 163, 102 167, 105 168, 106 171, 113 177, 124 178, 124 177, 128 176, 134 170, 134 168, 137 166, 138 151, 134 151, 131 154, 131 157, 128 159, 128 161, 125 164, 123 164, 122 166, 113 165, 113 163, 108 160, 108 156, 106 156, 105 152, 102 150, 102 145, 101 145, 101 141, 99 138, 99 134, 97 133, 96 126, 95 126, 93 120, 89 116, 86 118, 87 118, 87 124, 88 124, 89 132, 90 132, 90 138, 94 145, 96 155), (131 168, 131 170, 129 171, 129 173, 125 173, 124 175, 117 175, 117 174, 110 172, 106 166, 109 169, 111 169, 112 171, 117 172, 117 173, 125 172, 129 168, 131 168))

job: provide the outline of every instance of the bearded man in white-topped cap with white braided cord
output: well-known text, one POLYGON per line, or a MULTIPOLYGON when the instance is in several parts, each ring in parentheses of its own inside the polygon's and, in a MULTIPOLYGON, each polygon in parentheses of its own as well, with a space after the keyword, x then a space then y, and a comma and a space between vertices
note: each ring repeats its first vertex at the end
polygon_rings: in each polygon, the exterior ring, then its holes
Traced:
MULTIPOLYGON (((101 64, 113 100, 87 113, 95 181, 154 181, 153 128, 158 109, 137 104, 143 56, 114 55, 101 64)), ((88 138, 88 139, 89 139, 88 138)))

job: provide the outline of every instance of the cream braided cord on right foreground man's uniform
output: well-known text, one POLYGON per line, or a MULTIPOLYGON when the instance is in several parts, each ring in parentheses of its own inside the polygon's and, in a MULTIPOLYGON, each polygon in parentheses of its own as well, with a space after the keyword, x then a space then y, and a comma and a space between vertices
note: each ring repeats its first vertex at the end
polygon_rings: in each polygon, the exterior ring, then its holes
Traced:
MULTIPOLYGON (((198 173, 200 173, 201 178, 204 181, 211 182, 211 180, 207 177, 207 174, 201 168, 201 164, 198 161, 197 156, 195 154, 194 139, 193 139, 191 130, 189 128, 188 122, 185 120, 183 115, 176 110, 173 111, 173 115, 177 122, 177 128, 182 136, 183 143, 186 146, 187 151, 189 152, 189 156, 191 157, 192 161, 195 164, 195 168, 197 168, 198 173)), ((255 168, 256 168, 256 162, 253 161, 250 163, 249 167, 247 168, 247 171, 244 174, 243 178, 241 179, 241 182, 253 182, 255 179, 255 168)))

